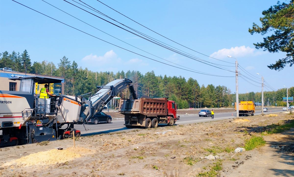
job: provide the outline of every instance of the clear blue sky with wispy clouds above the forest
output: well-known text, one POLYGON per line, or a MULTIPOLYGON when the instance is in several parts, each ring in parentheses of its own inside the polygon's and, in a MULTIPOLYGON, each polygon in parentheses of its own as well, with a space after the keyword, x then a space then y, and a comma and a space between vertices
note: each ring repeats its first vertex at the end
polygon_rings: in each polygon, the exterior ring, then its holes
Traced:
MULTIPOLYGON (((118 41, 41 0, 16 1, 86 33, 160 62, 181 67, 176 65, 179 64, 209 74, 235 76, 234 72, 211 67, 154 45, 65 1, 56 0, 49 2, 45 0, 116 38, 175 64, 118 41)), ((76 4, 74 1, 68 1, 76 4)), ((146 35, 205 61, 229 65, 230 67, 224 67, 234 71, 234 64, 226 63, 235 63, 235 59, 227 57, 227 55, 231 55, 237 58, 240 66, 250 74, 259 78, 260 75, 255 73, 262 74, 265 81, 275 89, 283 88, 283 85, 294 86, 293 67, 286 67, 279 72, 270 70, 267 67, 267 65, 284 57, 285 53, 273 54, 255 49, 253 43, 262 41, 263 36, 259 34, 250 35, 248 33, 248 28, 252 26, 253 22, 260 24, 261 12, 276 4, 277 1, 102 1, 161 35, 197 52, 226 62, 212 59, 171 42, 134 23, 98 1, 83 0, 83 2, 146 35)), ((87 10, 90 11, 89 9, 87 10)), ((91 12, 94 13, 93 11, 91 12)), ((106 17, 103 18, 106 19, 106 17)), ((145 74, 153 70, 156 75, 182 76, 186 79, 192 77, 197 79, 199 84, 204 84, 205 86, 208 84, 214 84, 215 86, 225 85, 230 88, 232 93, 235 92, 235 77, 207 76, 161 64, 81 33, 13 1, 0 1, 0 52, 6 50, 9 53, 13 50, 23 52, 25 49, 29 52, 32 62, 46 60, 54 62, 57 66, 60 59, 66 56, 71 62, 76 61, 79 67, 83 69, 87 67, 94 72, 138 70, 145 74)), ((213 65, 217 66, 216 64, 213 65)), ((240 69, 239 71, 250 79, 257 79, 252 75, 247 75, 240 69)), ((261 81, 255 79, 253 80, 260 83, 247 80, 261 86, 261 81)), ((271 89, 266 87, 264 90, 268 91, 271 89)), ((261 88, 239 78, 239 93, 250 91, 261 91, 261 88)))

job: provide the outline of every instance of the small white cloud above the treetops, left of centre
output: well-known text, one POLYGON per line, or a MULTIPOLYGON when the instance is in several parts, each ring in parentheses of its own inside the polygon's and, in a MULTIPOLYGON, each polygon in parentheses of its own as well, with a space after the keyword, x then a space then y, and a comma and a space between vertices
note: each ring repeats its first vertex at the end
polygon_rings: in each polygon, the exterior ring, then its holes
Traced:
POLYGON ((97 56, 97 55, 87 55, 83 57, 82 61, 84 62, 98 62, 99 64, 103 64, 106 62, 120 62, 121 59, 117 57, 116 53, 113 52, 113 50, 110 50, 106 52, 103 56, 97 56))

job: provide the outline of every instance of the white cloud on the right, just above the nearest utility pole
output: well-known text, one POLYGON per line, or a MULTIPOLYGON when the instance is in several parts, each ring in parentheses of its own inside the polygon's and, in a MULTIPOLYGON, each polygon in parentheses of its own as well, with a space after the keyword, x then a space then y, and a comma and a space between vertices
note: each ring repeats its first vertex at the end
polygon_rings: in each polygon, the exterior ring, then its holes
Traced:
POLYGON ((220 49, 217 52, 213 52, 210 57, 222 59, 227 58, 228 55, 233 56, 234 58, 244 57, 247 55, 256 55, 254 50, 254 48, 245 47, 245 45, 243 45, 240 47, 231 47, 230 49, 220 49))

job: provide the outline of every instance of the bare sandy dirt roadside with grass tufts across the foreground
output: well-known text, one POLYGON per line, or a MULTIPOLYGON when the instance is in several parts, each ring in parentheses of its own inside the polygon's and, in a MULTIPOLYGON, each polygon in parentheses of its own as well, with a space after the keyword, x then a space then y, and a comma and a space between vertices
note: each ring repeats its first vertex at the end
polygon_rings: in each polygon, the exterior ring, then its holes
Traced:
POLYGON ((267 143, 263 147, 232 152, 243 147, 245 140, 253 135, 261 136, 260 132, 268 125, 294 119, 293 114, 277 115, 246 117, 249 121, 233 122, 231 119, 77 137, 76 149, 70 152, 79 155, 72 155, 72 159, 65 158, 66 153, 49 153, 55 147, 72 147, 72 138, 44 146, 28 144, 1 148, 0 176, 190 177, 214 169, 214 176, 290 177, 294 170, 293 128, 263 136, 267 143), (220 159, 204 158, 210 154, 220 159), (21 159, 29 155, 30 158, 21 159), (53 155, 54 158, 49 158, 53 155), (44 156, 50 163, 42 163, 44 156), (221 168, 214 168, 217 163, 221 168))

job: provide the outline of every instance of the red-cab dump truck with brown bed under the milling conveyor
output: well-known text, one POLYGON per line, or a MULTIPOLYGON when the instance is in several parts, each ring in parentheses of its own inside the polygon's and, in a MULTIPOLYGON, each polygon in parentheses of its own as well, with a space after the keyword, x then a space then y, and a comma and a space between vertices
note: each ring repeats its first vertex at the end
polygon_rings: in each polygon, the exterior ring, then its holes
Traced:
POLYGON ((158 123, 173 126, 177 121, 177 108, 174 101, 167 98, 121 99, 118 112, 125 115, 127 128, 141 126, 158 127, 158 123))

